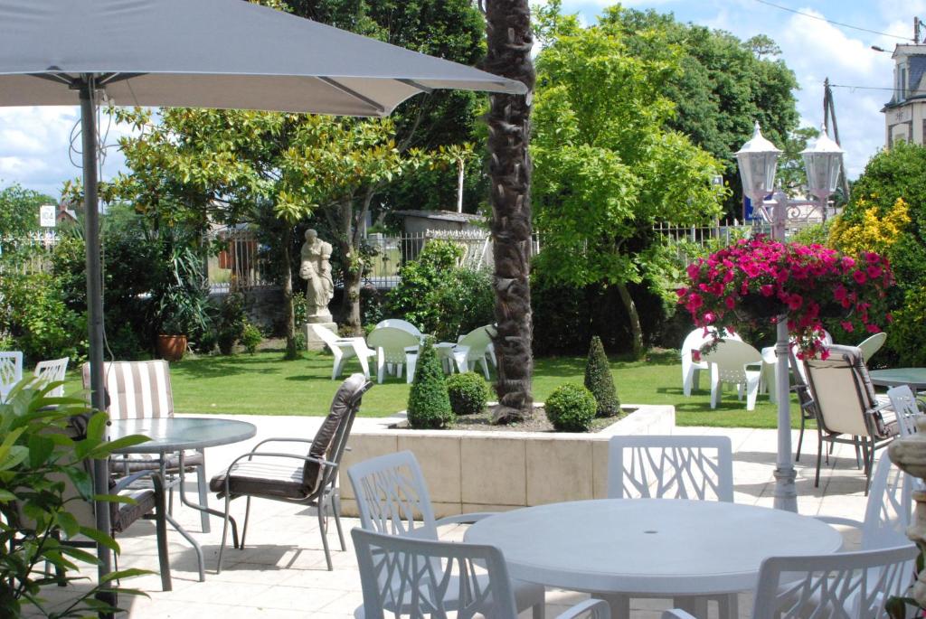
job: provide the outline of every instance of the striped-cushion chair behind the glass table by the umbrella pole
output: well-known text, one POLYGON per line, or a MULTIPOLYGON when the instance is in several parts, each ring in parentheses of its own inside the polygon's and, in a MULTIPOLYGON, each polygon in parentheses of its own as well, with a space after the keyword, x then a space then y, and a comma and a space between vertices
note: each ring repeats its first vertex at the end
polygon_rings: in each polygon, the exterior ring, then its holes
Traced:
MULTIPOLYGON (((156 419, 173 416, 173 390, 170 389, 170 366, 163 359, 154 361, 114 361, 103 364, 106 389, 106 413, 114 419, 156 419)), ((83 388, 90 389, 90 364, 81 366, 83 388)), ((168 474, 177 473, 180 454, 164 456, 168 474)), ((183 454, 183 467, 195 471, 198 502, 208 505, 206 491, 206 454, 203 450, 183 454)), ((113 461, 113 470, 121 476, 138 471, 158 470, 160 461, 151 456, 135 454, 113 461)), ((168 480, 169 501, 173 505, 173 484, 168 480)), ((209 532, 209 514, 200 514, 203 533, 209 532)))

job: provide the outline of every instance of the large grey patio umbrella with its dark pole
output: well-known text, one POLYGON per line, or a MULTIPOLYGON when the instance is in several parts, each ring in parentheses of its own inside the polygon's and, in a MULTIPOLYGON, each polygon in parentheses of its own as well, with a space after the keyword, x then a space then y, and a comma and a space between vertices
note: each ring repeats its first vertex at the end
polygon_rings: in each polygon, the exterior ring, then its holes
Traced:
MULTIPOLYGON (((416 93, 519 81, 242 0, 0 0, 0 105, 81 105, 91 393, 104 409, 94 111, 164 105, 386 116, 416 93)), ((105 464, 96 471, 106 493, 105 464)), ((108 511, 97 509, 107 531, 108 511)), ((99 547, 100 574, 110 556, 99 547)))

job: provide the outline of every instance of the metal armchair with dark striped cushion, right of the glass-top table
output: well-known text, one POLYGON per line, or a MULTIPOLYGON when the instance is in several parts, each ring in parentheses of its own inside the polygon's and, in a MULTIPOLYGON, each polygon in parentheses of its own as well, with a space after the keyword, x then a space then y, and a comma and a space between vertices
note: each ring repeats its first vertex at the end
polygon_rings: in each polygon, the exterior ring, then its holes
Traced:
POLYGON ((251 498, 285 501, 308 505, 318 509, 321 544, 325 551, 328 569, 332 570, 332 555, 328 549, 328 512, 334 516, 341 550, 347 550, 341 529, 341 495, 337 487, 341 456, 354 425, 363 394, 373 386, 362 374, 355 374, 341 383, 334 394, 331 412, 325 417, 314 439, 266 439, 251 451, 238 456, 228 469, 212 477, 209 489, 225 499, 225 526, 219 546, 216 572, 222 568, 222 554, 228 539, 229 514, 232 499, 247 497, 244 508, 244 527, 239 548, 244 548, 247 519, 251 512, 251 498), (307 455, 286 452, 262 452, 267 443, 296 442, 309 445, 307 455))

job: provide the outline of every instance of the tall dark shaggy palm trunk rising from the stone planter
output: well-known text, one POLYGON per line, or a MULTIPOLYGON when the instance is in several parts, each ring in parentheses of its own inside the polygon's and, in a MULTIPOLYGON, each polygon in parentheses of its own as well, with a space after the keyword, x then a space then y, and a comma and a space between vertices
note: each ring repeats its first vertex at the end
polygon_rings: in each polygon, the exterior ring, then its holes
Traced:
POLYGON ((488 114, 492 180, 497 423, 531 415, 531 102, 533 35, 527 0, 488 0, 484 68, 520 80, 526 95, 492 94, 488 114))

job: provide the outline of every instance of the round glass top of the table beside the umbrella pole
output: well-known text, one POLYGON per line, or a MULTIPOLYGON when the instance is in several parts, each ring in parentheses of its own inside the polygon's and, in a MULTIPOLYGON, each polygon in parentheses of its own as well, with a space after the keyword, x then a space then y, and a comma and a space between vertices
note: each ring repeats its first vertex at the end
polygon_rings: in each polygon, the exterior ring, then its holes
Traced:
POLYGON ((111 421, 110 439, 130 434, 144 434, 151 440, 116 450, 117 453, 165 453, 227 445, 250 439, 257 434, 257 427, 246 421, 220 417, 155 417, 111 421))

